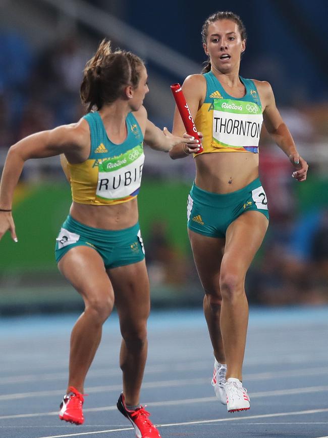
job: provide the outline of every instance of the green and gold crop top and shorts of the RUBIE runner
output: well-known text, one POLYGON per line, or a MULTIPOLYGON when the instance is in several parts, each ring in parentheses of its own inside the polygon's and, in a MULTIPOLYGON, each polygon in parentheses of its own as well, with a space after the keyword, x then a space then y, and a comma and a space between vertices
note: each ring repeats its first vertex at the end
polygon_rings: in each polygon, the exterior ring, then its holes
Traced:
MULTIPOLYGON (((143 135, 132 113, 126 118, 127 138, 117 145, 108 139, 98 112, 84 116, 90 126, 91 150, 86 161, 68 163, 73 201, 113 205, 134 199, 139 192, 144 162, 143 135)), ((93 248, 105 269, 144 259, 139 223, 122 230, 102 230, 76 221, 70 214, 56 239, 56 260, 76 246, 93 248)))

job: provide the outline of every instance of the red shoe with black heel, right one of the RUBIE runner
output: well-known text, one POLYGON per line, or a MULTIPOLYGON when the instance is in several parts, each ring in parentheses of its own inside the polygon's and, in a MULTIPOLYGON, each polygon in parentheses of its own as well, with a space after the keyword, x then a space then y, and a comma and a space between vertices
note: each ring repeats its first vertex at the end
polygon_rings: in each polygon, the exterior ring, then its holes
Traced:
POLYGON ((129 411, 125 406, 123 392, 117 402, 117 408, 128 420, 131 421, 138 438, 161 438, 158 430, 149 420, 149 412, 143 406, 135 411, 129 411))

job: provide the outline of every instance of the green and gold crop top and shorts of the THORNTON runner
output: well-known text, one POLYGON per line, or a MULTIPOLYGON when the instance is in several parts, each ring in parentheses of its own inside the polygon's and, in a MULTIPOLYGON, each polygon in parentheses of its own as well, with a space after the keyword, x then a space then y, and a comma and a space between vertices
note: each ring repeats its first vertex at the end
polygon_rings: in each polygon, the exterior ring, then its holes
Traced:
MULTIPOLYGON (((246 93, 229 96, 212 72, 204 74, 206 96, 195 125, 203 134, 203 152, 258 153, 263 123, 262 106, 251 79, 240 80, 246 93)), ((188 228, 207 237, 225 238, 227 229, 241 214, 258 211, 269 218, 265 191, 258 178, 235 192, 218 194, 192 186, 188 196, 188 228)))

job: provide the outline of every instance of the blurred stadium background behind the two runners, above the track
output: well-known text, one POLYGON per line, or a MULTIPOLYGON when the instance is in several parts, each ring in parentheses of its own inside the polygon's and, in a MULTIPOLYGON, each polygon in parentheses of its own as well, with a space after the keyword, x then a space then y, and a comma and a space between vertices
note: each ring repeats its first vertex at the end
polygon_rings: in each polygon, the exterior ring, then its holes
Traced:
MULTIPOLYGON (((308 180, 291 178, 288 159, 263 129, 260 176, 270 226, 247 276, 253 305, 328 303, 328 3, 326 0, 230 0, 194 6, 183 0, 1 0, 0 169, 10 145, 84 109, 79 85, 85 62, 103 37, 147 64, 145 106, 172 128, 170 84, 201 70, 200 30, 217 10, 239 14, 248 42, 241 74, 268 80, 308 180)), ((153 306, 201 305, 186 232, 192 158, 173 161, 146 148, 139 195, 153 306)), ((14 203, 19 242, 0 243, 0 314, 82 309, 54 260, 54 241, 68 214, 70 188, 58 157, 27 162, 14 203)))

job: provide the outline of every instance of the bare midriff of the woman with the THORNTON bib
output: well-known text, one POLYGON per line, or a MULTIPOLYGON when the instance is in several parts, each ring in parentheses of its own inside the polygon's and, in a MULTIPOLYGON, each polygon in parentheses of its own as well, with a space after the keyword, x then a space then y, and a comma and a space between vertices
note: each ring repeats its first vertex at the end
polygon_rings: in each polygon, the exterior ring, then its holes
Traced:
POLYGON ((214 152, 195 158, 195 184, 212 193, 240 190, 258 177, 258 154, 214 152))

